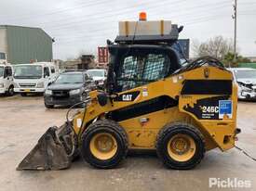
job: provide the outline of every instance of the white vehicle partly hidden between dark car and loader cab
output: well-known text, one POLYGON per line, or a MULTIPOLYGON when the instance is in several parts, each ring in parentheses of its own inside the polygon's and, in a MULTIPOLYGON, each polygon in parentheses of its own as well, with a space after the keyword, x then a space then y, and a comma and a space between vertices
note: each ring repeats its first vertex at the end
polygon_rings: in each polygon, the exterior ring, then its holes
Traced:
POLYGON ((91 69, 87 70, 87 73, 92 76, 93 81, 99 85, 104 86, 107 79, 107 71, 104 69, 91 69))

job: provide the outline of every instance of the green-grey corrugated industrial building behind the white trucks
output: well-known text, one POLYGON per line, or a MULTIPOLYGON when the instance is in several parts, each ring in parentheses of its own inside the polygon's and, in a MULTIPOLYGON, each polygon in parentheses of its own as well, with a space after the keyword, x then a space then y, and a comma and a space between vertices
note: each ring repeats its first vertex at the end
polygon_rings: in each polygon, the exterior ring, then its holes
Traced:
POLYGON ((40 28, 0 25, 0 57, 11 64, 50 61, 52 43, 40 28))

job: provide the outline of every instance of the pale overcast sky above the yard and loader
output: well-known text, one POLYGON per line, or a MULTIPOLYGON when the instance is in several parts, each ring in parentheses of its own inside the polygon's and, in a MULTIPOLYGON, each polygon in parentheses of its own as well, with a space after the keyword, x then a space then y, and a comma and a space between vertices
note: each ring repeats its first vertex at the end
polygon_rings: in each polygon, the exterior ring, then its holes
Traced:
MULTIPOLYGON (((256 57, 256 0, 237 0, 237 46, 256 57)), ((0 24, 40 27, 56 42, 54 58, 96 53, 115 39, 119 20, 170 19, 184 25, 181 38, 205 41, 234 36, 234 0, 0 0, 0 24)))

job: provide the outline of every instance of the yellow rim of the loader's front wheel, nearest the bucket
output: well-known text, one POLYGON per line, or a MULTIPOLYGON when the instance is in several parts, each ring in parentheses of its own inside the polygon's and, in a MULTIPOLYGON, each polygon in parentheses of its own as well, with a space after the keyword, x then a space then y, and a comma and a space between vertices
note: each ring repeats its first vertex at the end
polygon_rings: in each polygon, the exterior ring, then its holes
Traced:
POLYGON ((89 143, 89 148, 95 158, 111 159, 117 151, 117 143, 112 134, 95 134, 89 143))

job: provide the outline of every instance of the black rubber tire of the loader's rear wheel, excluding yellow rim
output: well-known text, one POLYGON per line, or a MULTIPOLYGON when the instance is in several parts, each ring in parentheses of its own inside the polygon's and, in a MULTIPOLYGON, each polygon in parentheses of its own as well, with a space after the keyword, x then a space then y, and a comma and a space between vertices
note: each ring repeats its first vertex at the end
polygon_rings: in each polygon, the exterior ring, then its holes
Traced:
POLYGON ((203 134, 200 133, 193 125, 173 122, 166 125, 157 135, 156 153, 159 159, 171 169, 188 170, 193 169, 204 158, 205 140, 203 134), (189 135, 195 141, 195 154, 187 161, 177 161, 168 155, 168 140, 175 134, 189 135))

